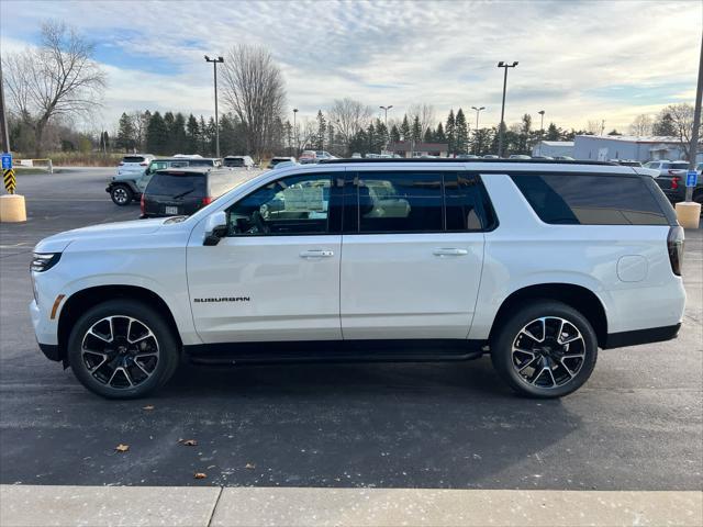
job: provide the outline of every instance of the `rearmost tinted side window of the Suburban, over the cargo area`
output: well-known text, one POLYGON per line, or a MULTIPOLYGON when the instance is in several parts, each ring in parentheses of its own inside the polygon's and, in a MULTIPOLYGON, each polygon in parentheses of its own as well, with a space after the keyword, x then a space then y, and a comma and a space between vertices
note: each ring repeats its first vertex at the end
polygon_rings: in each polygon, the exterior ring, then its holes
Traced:
POLYGON ((668 225, 645 180, 626 176, 515 175, 542 221, 577 225, 668 225))

